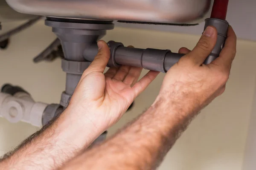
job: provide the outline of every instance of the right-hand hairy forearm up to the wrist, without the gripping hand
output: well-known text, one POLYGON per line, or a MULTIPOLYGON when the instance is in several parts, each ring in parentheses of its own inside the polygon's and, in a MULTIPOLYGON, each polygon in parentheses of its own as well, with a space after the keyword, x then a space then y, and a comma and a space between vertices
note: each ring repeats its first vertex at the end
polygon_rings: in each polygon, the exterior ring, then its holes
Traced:
POLYGON ((155 169, 196 113, 185 113, 188 110, 165 101, 159 99, 111 139, 78 156, 63 169, 155 169))

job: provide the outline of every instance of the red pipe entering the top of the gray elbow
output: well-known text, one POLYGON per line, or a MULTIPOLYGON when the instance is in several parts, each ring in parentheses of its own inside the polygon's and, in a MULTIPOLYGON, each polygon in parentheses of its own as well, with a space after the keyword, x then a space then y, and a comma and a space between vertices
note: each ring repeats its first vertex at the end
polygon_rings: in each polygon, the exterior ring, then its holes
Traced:
POLYGON ((228 0, 214 0, 211 18, 226 20, 228 0))

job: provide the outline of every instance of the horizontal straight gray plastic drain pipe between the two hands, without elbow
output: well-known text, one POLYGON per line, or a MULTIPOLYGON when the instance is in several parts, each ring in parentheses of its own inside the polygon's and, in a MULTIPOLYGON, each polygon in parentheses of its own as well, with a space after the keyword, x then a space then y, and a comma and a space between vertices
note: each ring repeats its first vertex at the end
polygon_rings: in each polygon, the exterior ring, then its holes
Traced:
MULTIPOLYGON (((172 53, 170 50, 129 48, 124 47, 120 42, 114 41, 108 42, 108 45, 111 51, 108 67, 130 65, 166 73, 184 55, 172 53)), ((92 62, 97 52, 96 44, 89 46, 84 51, 84 59, 92 62)))

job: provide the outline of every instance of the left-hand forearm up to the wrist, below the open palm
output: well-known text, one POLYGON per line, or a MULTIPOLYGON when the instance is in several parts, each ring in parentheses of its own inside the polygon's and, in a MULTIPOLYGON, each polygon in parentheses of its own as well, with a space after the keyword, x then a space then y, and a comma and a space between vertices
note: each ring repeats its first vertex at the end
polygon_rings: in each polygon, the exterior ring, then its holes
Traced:
POLYGON ((87 148, 104 131, 96 129, 90 121, 73 121, 70 113, 64 111, 58 119, 7 153, 0 161, 0 169, 56 169, 87 148))

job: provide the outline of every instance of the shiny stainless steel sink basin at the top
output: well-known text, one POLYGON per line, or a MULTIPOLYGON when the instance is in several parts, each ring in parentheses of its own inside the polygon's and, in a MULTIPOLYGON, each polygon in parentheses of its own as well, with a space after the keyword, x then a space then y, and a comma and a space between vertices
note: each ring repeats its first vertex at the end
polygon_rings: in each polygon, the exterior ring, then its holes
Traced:
POLYGON ((52 17, 190 23, 209 11, 211 0, 6 0, 15 11, 52 17))

